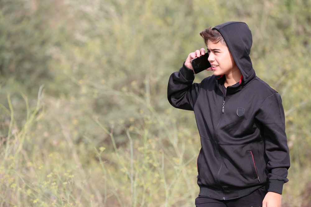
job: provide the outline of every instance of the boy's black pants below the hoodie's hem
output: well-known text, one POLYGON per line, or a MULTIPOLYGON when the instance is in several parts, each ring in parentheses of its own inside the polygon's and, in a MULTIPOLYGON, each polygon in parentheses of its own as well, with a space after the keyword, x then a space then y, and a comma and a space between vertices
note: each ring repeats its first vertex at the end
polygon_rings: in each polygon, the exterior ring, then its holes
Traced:
POLYGON ((263 186, 248 196, 233 200, 216 200, 198 196, 195 205, 196 207, 261 207, 266 194, 266 187, 263 186))

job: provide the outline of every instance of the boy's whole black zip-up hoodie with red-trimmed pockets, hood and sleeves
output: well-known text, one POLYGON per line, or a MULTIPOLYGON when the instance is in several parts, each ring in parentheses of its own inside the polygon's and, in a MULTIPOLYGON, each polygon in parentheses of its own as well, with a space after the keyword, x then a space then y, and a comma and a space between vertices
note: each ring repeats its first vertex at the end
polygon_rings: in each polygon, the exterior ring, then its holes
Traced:
POLYGON ((200 196, 230 200, 261 186, 282 193, 288 181, 289 150, 281 97, 255 75, 249 57, 252 34, 243 22, 214 27, 225 39, 243 80, 222 91, 225 77, 193 83, 185 65, 169 78, 168 100, 193 110, 201 138, 197 159, 200 196))

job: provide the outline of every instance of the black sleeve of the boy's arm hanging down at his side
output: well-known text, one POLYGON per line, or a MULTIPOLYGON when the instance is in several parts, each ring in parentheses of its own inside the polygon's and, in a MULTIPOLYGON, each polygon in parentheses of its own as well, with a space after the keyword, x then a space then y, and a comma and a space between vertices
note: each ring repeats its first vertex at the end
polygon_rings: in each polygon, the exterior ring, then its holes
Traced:
POLYGON ((288 182, 286 177, 290 167, 290 156, 285 133, 284 109, 279 93, 275 92, 263 101, 257 119, 263 127, 262 134, 268 160, 268 191, 282 194, 283 184, 288 182))

